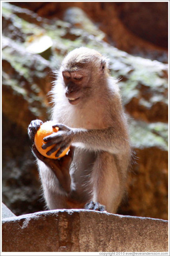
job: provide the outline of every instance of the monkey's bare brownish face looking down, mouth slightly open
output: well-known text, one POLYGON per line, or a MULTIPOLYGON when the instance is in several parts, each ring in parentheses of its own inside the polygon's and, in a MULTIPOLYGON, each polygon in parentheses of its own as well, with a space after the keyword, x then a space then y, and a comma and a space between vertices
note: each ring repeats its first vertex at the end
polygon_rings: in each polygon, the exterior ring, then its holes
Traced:
POLYGON ((80 103, 86 97, 89 88, 87 74, 85 71, 62 72, 65 95, 71 105, 80 103))

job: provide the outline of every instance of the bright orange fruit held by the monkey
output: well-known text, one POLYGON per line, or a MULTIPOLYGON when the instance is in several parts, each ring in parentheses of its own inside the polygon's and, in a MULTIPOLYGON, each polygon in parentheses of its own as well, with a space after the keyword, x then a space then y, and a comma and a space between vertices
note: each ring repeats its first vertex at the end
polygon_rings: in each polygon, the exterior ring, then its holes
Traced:
POLYGON ((46 149, 42 149, 41 146, 43 144, 45 144, 46 142, 43 141, 43 138, 50 135, 51 133, 57 133, 59 128, 52 128, 52 125, 54 125, 55 123, 53 121, 47 121, 43 124, 41 124, 40 128, 38 129, 38 131, 35 134, 34 137, 34 143, 36 145, 36 149, 41 153, 41 155, 47 157, 47 158, 52 158, 52 159, 57 159, 57 158, 61 158, 63 156, 66 155, 67 151, 69 150, 70 147, 66 148, 60 155, 59 157, 55 157, 57 151, 60 149, 58 148, 55 152, 53 152, 50 156, 46 155, 46 152, 49 151, 51 148, 54 147, 54 145, 51 145, 49 147, 47 147, 46 149))

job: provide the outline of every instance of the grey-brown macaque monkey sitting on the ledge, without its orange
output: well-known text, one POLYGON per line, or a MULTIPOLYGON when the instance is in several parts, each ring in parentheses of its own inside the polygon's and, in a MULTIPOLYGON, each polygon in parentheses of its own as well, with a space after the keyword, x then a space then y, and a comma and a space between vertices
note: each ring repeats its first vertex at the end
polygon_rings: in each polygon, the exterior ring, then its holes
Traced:
MULTIPOLYGON (((44 138, 59 159, 43 157, 33 144, 49 209, 85 208, 116 213, 127 184, 131 157, 127 120, 108 60, 95 50, 77 48, 64 58, 52 88, 51 120, 57 133, 44 138)), ((28 128, 30 138, 41 120, 28 128)))

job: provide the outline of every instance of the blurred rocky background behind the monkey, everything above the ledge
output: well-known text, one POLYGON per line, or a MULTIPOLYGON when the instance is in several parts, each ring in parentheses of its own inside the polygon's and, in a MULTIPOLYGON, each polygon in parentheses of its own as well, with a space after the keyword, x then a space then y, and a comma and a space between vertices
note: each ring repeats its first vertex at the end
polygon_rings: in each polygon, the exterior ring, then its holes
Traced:
POLYGON ((136 160, 118 213, 168 219, 168 2, 2 3, 2 202, 45 210, 27 127, 50 119, 63 56, 94 48, 119 78, 136 160))

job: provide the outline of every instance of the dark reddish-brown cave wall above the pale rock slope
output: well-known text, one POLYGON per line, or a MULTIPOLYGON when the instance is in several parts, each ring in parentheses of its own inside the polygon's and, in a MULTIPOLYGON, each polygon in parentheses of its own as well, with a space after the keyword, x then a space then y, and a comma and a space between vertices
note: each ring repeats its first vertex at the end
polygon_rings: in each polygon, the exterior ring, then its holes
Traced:
POLYGON ((11 3, 28 8, 41 17, 60 19, 67 8, 81 8, 116 48, 168 63, 168 2, 11 3))

